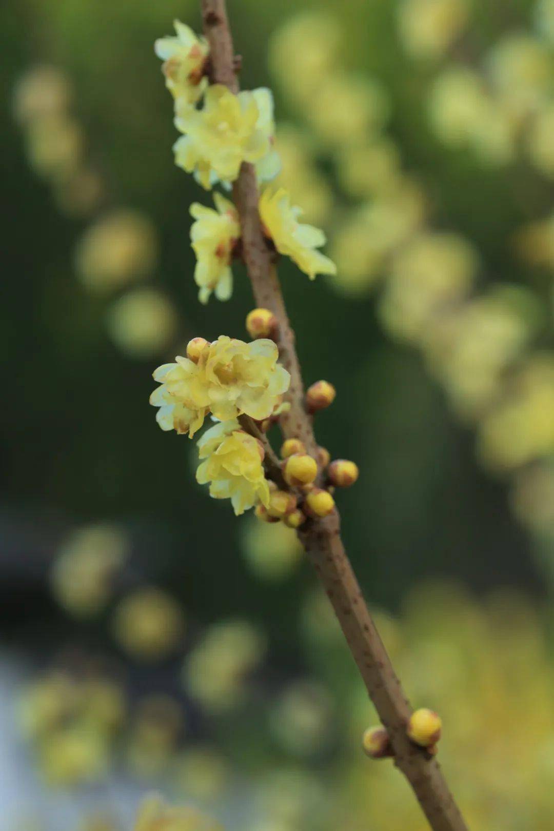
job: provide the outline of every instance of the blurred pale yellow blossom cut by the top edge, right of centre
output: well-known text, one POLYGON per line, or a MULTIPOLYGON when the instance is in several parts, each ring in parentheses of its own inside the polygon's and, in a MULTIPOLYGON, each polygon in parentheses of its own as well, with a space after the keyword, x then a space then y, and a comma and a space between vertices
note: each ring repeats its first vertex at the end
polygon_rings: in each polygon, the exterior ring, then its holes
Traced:
POLYGON ((463 32, 467 0, 402 0, 399 32, 404 48, 417 58, 438 58, 463 32))

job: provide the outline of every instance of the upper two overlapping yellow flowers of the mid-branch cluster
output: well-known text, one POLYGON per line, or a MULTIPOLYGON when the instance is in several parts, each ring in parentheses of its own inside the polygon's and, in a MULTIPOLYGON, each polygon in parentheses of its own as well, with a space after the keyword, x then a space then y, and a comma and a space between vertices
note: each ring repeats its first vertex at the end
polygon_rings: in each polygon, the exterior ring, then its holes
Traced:
POLYGON ((192 438, 208 410, 221 421, 242 413, 257 421, 268 418, 291 381, 278 356, 272 341, 245 343, 222 335, 196 363, 177 356, 176 363, 159 366, 154 381, 162 386, 150 396, 150 404, 160 408, 159 426, 192 438))

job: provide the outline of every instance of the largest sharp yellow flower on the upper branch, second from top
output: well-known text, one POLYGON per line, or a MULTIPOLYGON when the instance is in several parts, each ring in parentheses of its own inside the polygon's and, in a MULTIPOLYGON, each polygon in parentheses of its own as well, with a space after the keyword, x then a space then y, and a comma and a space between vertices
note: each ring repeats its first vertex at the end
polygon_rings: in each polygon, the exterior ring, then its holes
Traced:
POLYGON ((175 164, 193 173, 209 190, 238 177, 243 161, 261 163, 263 178, 277 174, 272 150, 272 97, 269 90, 239 92, 208 87, 202 110, 176 105, 175 125, 184 133, 174 144, 175 164), (267 166, 267 170, 266 170, 267 166))

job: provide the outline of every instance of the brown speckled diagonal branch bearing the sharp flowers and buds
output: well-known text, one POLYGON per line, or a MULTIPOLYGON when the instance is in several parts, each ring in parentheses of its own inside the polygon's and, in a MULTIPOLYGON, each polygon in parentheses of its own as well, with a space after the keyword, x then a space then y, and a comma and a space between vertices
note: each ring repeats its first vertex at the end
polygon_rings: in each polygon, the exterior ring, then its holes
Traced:
MULTIPOLYGON (((225 0, 201 2, 204 32, 210 45, 212 81, 226 84, 231 91, 237 92, 233 39, 225 0)), ((291 373, 288 394, 291 409, 287 416, 282 417, 282 430, 287 437, 301 439, 308 453, 316 457, 316 439, 311 416, 304 406, 304 387, 294 333, 283 302, 274 255, 262 233, 256 175, 252 165, 243 165, 233 188, 233 196, 240 214, 243 257, 254 297, 258 306, 270 309, 277 317, 280 360, 291 373)), ((325 519, 309 520, 300 529, 299 537, 331 600, 380 720, 389 732, 395 765, 409 780, 429 825, 434 831, 467 831, 437 761, 425 750, 413 745, 406 735, 411 708, 346 556, 338 512, 334 511, 325 519)))

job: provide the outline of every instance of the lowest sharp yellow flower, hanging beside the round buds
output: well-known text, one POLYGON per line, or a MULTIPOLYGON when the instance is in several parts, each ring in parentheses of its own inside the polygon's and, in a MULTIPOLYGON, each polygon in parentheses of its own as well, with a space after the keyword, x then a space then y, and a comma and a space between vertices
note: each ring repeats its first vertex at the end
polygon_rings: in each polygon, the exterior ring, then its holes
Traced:
POLYGON ((269 504, 269 486, 263 473, 263 449, 252 435, 240 429, 238 421, 222 421, 199 440, 196 471, 199 484, 210 483, 214 499, 231 499, 235 514, 243 514, 257 502, 269 504))

